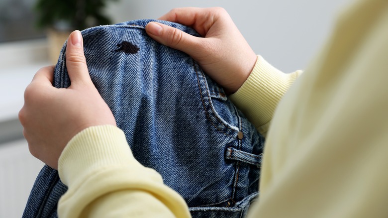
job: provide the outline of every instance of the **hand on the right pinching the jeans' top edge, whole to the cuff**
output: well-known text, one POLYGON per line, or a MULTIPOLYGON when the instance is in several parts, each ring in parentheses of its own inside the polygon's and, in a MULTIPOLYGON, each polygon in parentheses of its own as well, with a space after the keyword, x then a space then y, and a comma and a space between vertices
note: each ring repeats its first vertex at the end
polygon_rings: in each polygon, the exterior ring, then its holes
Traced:
POLYGON ((157 22, 146 26, 150 37, 189 54, 227 93, 235 93, 250 75, 257 56, 225 9, 175 8, 159 19, 190 26, 202 36, 157 22))

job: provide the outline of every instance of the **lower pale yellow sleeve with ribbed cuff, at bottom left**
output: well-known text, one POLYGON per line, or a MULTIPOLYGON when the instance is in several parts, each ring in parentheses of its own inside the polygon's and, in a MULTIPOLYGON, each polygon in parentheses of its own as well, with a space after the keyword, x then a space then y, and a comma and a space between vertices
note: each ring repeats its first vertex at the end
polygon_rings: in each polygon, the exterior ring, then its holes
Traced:
POLYGON ((77 134, 63 151, 58 170, 69 187, 58 205, 60 217, 190 217, 183 198, 134 159, 115 126, 77 134))

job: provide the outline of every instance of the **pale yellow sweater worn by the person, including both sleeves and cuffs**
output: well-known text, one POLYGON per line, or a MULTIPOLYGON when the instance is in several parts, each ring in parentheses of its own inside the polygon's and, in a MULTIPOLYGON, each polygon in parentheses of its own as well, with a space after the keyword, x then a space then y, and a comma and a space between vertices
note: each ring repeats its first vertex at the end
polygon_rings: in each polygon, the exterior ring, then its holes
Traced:
MULTIPOLYGON (((259 131, 270 127, 260 200, 249 216, 388 217, 388 1, 358 0, 343 11, 293 83, 299 74, 283 74, 259 56, 231 97, 259 131)), ((59 174, 69 186, 60 217, 190 217, 114 126, 77 134, 59 174)))

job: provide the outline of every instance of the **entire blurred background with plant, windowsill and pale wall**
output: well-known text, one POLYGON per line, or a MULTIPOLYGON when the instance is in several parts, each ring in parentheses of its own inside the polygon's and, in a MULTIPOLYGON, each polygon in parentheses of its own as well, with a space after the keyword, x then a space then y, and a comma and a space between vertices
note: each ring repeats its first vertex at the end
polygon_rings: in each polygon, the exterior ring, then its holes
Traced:
POLYGON ((17 113, 25 87, 40 67, 55 63, 69 31, 158 18, 174 7, 221 6, 257 54, 292 72, 306 67, 350 1, 0 0, 0 217, 21 217, 43 166, 29 154, 17 113))

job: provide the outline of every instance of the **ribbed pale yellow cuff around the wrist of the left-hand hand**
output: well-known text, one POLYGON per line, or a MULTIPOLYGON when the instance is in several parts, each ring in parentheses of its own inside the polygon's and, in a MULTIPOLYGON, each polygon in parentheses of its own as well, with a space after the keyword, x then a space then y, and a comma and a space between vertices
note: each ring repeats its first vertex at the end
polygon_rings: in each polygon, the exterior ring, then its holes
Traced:
POLYGON ((133 157, 124 132, 113 125, 92 126, 69 141, 59 157, 58 172, 71 186, 98 169, 128 164, 143 167, 133 157))

